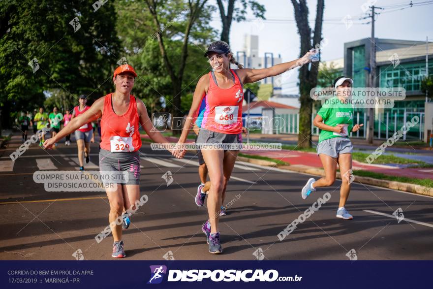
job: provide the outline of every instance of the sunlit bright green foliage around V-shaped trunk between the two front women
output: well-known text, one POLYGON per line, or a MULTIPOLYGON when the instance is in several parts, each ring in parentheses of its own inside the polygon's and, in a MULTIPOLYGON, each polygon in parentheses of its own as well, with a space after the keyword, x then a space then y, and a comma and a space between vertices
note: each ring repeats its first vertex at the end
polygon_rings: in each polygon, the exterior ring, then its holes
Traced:
MULTIPOLYGON (((172 0, 159 6, 158 21, 161 28, 155 29, 154 18, 147 3, 143 0, 116 1, 118 14, 117 33, 122 41, 122 56, 134 66, 138 77, 135 79, 133 94, 141 98, 148 113, 173 111, 179 108, 179 115, 188 111, 197 79, 207 73, 210 65, 203 57, 205 46, 216 38, 216 31, 209 25, 209 18, 216 11, 213 6, 205 6, 189 32, 187 58, 182 78, 181 105, 173 105, 173 82, 167 73, 161 55, 157 34, 163 34, 167 59, 175 72, 179 71, 184 45, 184 33, 188 25, 188 6, 185 1, 172 0), (168 8, 169 7, 169 8, 168 8), (162 107, 161 96, 166 106, 162 107)), ((178 116, 179 116, 178 115, 178 116)))

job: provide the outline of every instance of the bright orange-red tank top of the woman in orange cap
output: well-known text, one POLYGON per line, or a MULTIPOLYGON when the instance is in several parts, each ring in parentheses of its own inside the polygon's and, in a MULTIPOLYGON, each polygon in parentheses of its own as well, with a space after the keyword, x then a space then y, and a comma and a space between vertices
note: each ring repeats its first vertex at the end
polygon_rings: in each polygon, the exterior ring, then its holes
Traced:
POLYGON ((112 94, 104 96, 101 118, 101 148, 112 153, 135 152, 141 147, 139 116, 135 96, 129 96, 129 107, 123 115, 113 111, 112 94))

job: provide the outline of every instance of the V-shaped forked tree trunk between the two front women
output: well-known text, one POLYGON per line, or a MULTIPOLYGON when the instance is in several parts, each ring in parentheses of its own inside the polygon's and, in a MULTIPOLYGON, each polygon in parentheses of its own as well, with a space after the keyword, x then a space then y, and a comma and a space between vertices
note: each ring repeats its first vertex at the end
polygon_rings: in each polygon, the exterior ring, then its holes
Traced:
MULTIPOLYGON (((168 75, 170 76, 170 80, 173 88, 173 99, 171 103, 172 107, 172 116, 173 118, 183 117, 181 110, 181 93, 182 93, 182 83, 184 79, 185 67, 186 67, 186 59, 188 57, 188 44, 190 41, 190 34, 192 32, 192 28, 196 23, 197 19, 200 17, 200 14, 203 11, 203 8, 208 0, 187 0, 186 8, 186 26, 183 35, 179 35, 182 37, 182 47, 181 47, 181 55, 179 58, 171 59, 169 57, 169 53, 167 52, 167 47, 169 47, 170 40, 166 36, 164 31, 166 30, 166 25, 162 25, 161 23, 161 14, 163 15, 167 11, 176 11, 178 8, 182 7, 185 2, 184 1, 159 1, 159 0, 145 0, 150 14, 152 16, 154 28, 155 28, 155 36, 158 40, 159 51, 161 53, 161 57, 164 63, 164 67, 168 75), (174 66, 174 63, 177 63, 178 67, 174 66)), ((185 9, 185 6, 182 7, 185 9)), ((173 122, 172 128, 174 129, 174 134, 180 134, 182 124, 180 122, 173 122)))

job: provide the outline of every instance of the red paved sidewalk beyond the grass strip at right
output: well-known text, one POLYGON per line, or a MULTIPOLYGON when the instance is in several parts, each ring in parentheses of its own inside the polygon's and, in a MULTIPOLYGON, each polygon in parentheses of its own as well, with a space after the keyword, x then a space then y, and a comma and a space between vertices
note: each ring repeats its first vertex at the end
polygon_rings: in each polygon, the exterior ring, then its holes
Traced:
MULTIPOLYGON (((258 134, 258 136, 263 136, 263 134, 258 134)), ((147 134, 141 134, 142 138, 149 139, 147 134)), ((289 136, 290 137, 290 136, 289 136)), ((297 137, 297 136, 296 136, 297 137)), ((177 143, 177 137, 167 137, 167 139, 172 143, 177 143)), ((251 140, 250 135, 250 140, 251 140)), ((245 137, 244 137, 245 141, 245 137)), ((194 142, 193 139, 188 139, 187 143, 194 142)), ((321 168, 322 163, 316 153, 300 152, 300 151, 241 151, 243 154, 256 155, 262 157, 268 157, 272 159, 277 159, 280 161, 285 161, 291 165, 303 165, 312 168, 321 168)), ((391 176, 399 177, 410 177, 417 179, 433 179, 433 168, 404 168, 398 165, 385 165, 385 164, 368 164, 359 161, 353 161, 353 170, 366 170, 376 173, 387 174, 391 176)))

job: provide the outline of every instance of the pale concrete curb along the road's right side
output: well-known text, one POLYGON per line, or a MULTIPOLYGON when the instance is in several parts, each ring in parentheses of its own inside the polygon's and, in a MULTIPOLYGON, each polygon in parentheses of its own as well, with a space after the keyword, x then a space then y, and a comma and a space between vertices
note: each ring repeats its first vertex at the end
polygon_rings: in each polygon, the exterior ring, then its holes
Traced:
MULTIPOLYGON (((250 159, 250 158, 246 158, 246 157, 238 157, 238 160, 250 162, 250 163, 258 164, 258 165, 276 166, 276 163, 272 162, 272 161, 256 160, 256 159, 250 159)), ((300 173, 308 173, 311 175, 317 175, 317 176, 321 176, 321 177, 325 176, 325 171, 323 169, 312 167, 309 165, 292 164, 292 165, 278 166, 278 168, 289 170, 289 171, 300 172, 300 173)), ((337 178, 341 179, 340 172, 337 172, 337 178)), ((429 187, 425 187, 425 186, 421 186, 421 185, 402 183, 402 182, 396 182, 396 181, 388 181, 388 180, 380 180, 380 179, 374 179, 374 178, 370 178, 370 177, 361 177, 361 176, 356 177, 354 182, 362 184, 362 185, 373 185, 373 186, 377 186, 377 187, 383 187, 383 188, 388 188, 388 189, 392 189, 392 190, 399 190, 399 191, 408 192, 408 193, 416 193, 416 194, 433 196, 433 188, 429 188, 429 187)))

